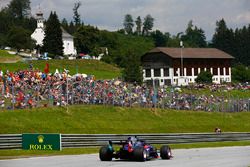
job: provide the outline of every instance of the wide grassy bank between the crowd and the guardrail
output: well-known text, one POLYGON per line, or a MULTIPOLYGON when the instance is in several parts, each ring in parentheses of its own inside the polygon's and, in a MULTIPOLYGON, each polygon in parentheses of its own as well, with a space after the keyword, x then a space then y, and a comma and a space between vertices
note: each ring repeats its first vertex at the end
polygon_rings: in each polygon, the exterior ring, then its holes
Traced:
POLYGON ((250 113, 70 106, 0 112, 0 133, 249 132, 250 113))

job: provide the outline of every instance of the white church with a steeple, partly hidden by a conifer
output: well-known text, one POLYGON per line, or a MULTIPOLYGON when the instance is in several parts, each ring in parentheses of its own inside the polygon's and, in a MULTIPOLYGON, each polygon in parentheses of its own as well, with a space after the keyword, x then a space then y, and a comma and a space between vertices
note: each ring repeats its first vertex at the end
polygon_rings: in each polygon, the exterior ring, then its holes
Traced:
MULTIPOLYGON (((43 13, 39 10, 36 13, 37 28, 31 34, 31 38, 36 41, 36 45, 43 46, 43 39, 45 37, 44 32, 44 18, 43 13)), ((76 49, 74 47, 73 36, 67 33, 62 27, 62 40, 63 40, 63 53, 64 55, 76 55, 76 49)))

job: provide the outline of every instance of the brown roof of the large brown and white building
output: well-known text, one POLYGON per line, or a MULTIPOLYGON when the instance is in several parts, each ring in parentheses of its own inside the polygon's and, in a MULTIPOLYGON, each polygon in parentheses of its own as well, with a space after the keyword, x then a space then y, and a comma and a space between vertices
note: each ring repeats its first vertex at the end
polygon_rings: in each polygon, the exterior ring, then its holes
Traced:
MULTIPOLYGON (((181 48, 165 48, 157 47, 147 52, 150 53, 164 53, 171 58, 181 58, 181 48)), ((145 55, 146 55, 145 54, 145 55)), ((215 48, 183 48, 183 58, 195 58, 195 59, 233 59, 234 57, 215 48)))

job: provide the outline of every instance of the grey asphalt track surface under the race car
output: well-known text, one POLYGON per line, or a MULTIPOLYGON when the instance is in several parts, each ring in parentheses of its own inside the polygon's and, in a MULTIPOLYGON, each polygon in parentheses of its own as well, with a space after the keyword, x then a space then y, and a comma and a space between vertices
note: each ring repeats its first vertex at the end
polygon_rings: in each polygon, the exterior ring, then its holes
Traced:
POLYGON ((0 167, 250 167, 250 146, 173 150, 171 160, 102 162, 98 154, 0 160, 0 167))

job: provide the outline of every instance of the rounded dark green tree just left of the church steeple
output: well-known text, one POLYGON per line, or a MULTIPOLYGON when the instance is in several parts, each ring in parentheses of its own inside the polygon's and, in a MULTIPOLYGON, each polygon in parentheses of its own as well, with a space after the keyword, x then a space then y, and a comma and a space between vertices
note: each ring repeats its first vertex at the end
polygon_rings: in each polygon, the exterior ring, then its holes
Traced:
POLYGON ((7 34, 7 43, 15 48, 17 52, 20 49, 32 49, 35 42, 30 37, 31 33, 22 27, 12 27, 7 34))

